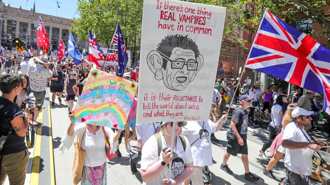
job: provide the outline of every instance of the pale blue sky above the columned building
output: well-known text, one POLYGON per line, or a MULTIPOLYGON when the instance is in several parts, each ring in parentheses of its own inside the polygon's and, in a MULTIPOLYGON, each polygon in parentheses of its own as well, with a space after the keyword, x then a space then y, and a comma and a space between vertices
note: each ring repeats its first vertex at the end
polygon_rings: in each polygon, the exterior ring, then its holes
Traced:
MULTIPOLYGON (((11 7, 26 9, 26 0, 3 0, 6 6, 10 4, 11 7)), ((56 0, 28 0, 27 10, 33 8, 33 4, 36 2, 36 12, 42 14, 48 14, 56 16, 57 3, 56 0)), ((77 11, 77 0, 58 0, 60 8, 57 9, 57 16, 68 19, 78 18, 77 11)))

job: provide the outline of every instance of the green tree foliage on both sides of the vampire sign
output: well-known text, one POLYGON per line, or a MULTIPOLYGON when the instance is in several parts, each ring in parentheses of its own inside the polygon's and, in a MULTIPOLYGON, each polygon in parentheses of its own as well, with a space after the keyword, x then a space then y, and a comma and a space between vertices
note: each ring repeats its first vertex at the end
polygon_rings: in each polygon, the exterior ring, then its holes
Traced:
MULTIPOLYGON (((325 29, 321 34, 328 38, 330 46, 330 19, 324 16, 329 0, 187 0, 187 2, 222 6, 227 8, 223 39, 245 49, 246 40, 237 38, 240 29, 256 32, 261 9, 294 24, 296 15, 311 18, 325 29), (252 9, 252 11, 251 11, 252 9)), ((127 48, 139 46, 141 40, 143 0, 78 0, 80 18, 74 19, 71 30, 81 39, 88 38, 88 29, 96 32, 97 40, 108 47, 117 20, 121 26, 127 48), (117 15, 117 12, 122 15, 117 15)), ((263 12, 262 12, 263 14, 263 12)), ((313 30, 310 32, 313 33, 313 30)), ((247 50, 245 50, 247 51, 247 50)))

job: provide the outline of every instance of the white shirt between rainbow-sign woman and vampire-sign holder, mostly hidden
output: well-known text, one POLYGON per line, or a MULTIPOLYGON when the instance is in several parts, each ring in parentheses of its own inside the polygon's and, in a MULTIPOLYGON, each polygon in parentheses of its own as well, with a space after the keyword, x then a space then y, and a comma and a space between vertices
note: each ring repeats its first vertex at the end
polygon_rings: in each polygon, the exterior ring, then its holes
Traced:
POLYGON ((160 126, 160 122, 150 122, 150 123, 137 123, 137 139, 142 141, 142 146, 147 142, 153 134, 155 134, 157 127, 160 126))

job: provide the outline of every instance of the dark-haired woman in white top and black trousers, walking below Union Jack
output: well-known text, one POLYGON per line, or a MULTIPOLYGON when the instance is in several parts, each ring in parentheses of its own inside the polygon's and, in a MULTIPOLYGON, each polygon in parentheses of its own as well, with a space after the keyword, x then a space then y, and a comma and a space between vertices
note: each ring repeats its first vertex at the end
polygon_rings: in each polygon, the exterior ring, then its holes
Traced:
POLYGON ((272 121, 269 124, 269 140, 265 144, 263 144, 262 149, 259 151, 259 156, 263 159, 269 160, 265 154, 265 151, 271 147, 275 137, 277 134, 281 132, 282 129, 282 119, 283 119, 283 111, 282 105, 283 103, 287 103, 287 98, 285 95, 279 95, 276 98, 276 103, 272 107, 272 121))

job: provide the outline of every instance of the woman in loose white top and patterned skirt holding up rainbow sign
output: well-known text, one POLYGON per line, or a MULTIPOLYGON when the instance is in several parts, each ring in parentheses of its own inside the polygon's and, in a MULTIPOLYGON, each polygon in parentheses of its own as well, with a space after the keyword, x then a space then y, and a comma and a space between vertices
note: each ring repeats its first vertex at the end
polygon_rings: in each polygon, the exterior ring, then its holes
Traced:
MULTIPOLYGON (((73 119, 73 115, 70 115, 70 118, 73 119)), ((110 153, 114 153, 120 132, 114 133, 110 127, 104 127, 104 131, 101 126, 85 123, 78 123, 75 125, 75 122, 71 121, 68 131, 65 132, 61 139, 59 154, 63 154, 65 151, 70 149, 76 135, 78 135, 79 140, 83 138, 81 149, 86 151, 86 155, 81 175, 81 185, 107 184, 105 133, 109 137, 111 147, 110 153)))

